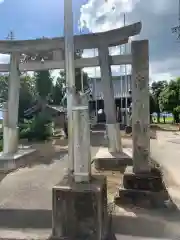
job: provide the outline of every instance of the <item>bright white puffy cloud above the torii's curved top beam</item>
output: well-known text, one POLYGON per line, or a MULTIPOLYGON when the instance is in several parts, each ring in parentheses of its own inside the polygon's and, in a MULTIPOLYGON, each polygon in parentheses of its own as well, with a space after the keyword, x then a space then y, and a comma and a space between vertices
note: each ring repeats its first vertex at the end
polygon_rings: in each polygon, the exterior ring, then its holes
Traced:
POLYGON ((131 12, 140 0, 89 0, 81 7, 80 25, 92 32, 107 31, 123 24, 123 14, 131 12), (111 19, 111 21, 109 21, 111 19))

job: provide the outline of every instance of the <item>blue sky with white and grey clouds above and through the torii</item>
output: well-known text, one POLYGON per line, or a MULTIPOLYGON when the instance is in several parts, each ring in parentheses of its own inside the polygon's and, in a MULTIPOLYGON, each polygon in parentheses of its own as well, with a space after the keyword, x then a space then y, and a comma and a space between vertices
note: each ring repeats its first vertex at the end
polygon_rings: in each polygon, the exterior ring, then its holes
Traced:
MULTIPOLYGON (((86 22, 84 33, 108 31, 141 21, 138 39, 149 40, 150 78, 168 80, 180 76, 180 42, 171 33, 178 24, 179 0, 73 0, 74 32, 78 21, 86 22)), ((63 35, 64 0, 0 0, 0 39, 12 30, 16 39, 63 35)), ((119 53, 118 49, 112 52, 119 53)), ((92 51, 85 53, 92 56, 92 51)), ((0 54, 0 63, 9 61, 0 54)), ((92 74, 92 69, 86 71, 92 74)), ((120 75, 119 66, 113 74, 120 75)), ((99 70, 98 70, 98 74, 99 70)))

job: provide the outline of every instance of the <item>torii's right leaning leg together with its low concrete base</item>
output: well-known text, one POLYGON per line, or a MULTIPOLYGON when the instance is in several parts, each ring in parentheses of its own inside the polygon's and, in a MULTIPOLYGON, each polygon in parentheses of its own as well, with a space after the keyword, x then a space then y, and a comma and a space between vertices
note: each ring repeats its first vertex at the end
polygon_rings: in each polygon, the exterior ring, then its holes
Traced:
POLYGON ((114 89, 110 66, 108 45, 101 39, 99 44, 99 62, 101 68, 101 86, 103 89, 104 108, 106 114, 106 131, 108 148, 100 148, 94 158, 95 168, 98 170, 120 170, 122 164, 132 162, 122 148, 120 125, 114 100, 114 89))

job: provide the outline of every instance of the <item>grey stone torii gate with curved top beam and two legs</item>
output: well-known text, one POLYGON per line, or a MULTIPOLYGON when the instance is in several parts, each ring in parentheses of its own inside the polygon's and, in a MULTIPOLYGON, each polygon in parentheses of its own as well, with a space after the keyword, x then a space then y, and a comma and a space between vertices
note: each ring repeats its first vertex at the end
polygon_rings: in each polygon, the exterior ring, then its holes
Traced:
MULTIPOLYGON (((122 151, 119 126, 116 121, 114 94, 111 81, 110 65, 131 64, 131 55, 109 56, 108 47, 125 44, 130 36, 139 34, 141 23, 135 23, 116 30, 103 33, 74 36, 74 49, 99 49, 99 56, 75 60, 76 68, 100 66, 102 88, 104 92, 105 112, 109 149, 112 152, 122 151)), ((64 38, 36 40, 2 40, 0 52, 10 54, 10 64, 0 64, 0 72, 9 72, 8 108, 4 118, 4 149, 1 158, 18 152, 18 108, 19 108, 19 73, 65 68, 64 38), (27 56, 30 56, 27 58, 27 56)), ((69 146, 71 147, 71 146, 69 146)), ((73 164, 72 164, 73 168, 73 164)), ((73 169, 72 169, 73 170, 73 169)))

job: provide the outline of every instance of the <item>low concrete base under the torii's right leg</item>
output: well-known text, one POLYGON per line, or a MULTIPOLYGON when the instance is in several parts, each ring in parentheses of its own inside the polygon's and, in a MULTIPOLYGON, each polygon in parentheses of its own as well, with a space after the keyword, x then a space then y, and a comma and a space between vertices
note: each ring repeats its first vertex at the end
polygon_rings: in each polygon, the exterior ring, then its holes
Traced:
POLYGON ((119 171, 122 166, 132 165, 132 158, 125 148, 119 153, 111 153, 108 148, 100 148, 93 161, 97 170, 119 171))

